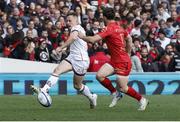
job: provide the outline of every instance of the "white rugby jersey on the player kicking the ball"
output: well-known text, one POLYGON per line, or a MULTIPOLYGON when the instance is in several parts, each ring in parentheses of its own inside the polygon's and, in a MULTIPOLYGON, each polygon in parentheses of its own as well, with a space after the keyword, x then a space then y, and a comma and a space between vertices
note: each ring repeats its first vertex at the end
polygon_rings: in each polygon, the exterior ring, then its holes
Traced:
MULTIPOLYGON (((81 25, 72 27, 71 32, 73 31, 81 32, 84 35, 86 33, 81 25)), ((72 54, 76 60, 89 60, 87 50, 87 42, 83 41, 79 37, 70 45, 70 54, 72 54)))

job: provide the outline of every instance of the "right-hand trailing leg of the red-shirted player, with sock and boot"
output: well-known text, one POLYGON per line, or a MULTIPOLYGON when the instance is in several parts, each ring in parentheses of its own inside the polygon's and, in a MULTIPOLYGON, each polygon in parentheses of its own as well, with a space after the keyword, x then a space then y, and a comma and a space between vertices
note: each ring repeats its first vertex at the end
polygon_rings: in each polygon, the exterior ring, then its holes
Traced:
POLYGON ((117 75, 117 84, 119 85, 119 88, 122 92, 126 93, 127 95, 135 98, 139 102, 139 108, 138 110, 144 111, 149 103, 149 101, 142 97, 141 94, 136 92, 132 87, 128 87, 129 77, 128 76, 120 76, 117 75))

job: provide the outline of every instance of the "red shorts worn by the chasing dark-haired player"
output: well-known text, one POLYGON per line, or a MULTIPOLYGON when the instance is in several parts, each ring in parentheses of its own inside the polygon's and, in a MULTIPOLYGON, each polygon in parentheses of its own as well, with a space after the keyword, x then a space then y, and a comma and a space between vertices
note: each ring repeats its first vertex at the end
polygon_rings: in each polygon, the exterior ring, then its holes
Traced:
POLYGON ((115 70, 115 74, 122 75, 122 76, 128 76, 131 72, 132 63, 130 61, 126 62, 110 62, 109 63, 115 70))

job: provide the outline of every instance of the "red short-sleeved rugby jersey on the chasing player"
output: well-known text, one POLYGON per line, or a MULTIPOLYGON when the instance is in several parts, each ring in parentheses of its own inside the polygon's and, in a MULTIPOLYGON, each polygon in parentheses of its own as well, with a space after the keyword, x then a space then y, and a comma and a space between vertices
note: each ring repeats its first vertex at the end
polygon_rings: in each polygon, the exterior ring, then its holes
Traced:
POLYGON ((124 40, 128 33, 116 22, 108 23, 107 27, 98 35, 106 40, 112 62, 118 63, 130 60, 125 49, 126 43, 124 40))

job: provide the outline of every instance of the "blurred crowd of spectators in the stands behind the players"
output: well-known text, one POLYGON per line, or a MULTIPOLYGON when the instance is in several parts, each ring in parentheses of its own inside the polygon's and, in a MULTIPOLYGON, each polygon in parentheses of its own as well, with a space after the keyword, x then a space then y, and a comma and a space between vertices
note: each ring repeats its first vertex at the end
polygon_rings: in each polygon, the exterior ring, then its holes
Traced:
MULTIPOLYGON (((103 9, 133 38, 132 72, 180 71, 180 0, 0 0, 0 57, 59 63, 69 49, 69 12, 76 12, 86 35, 105 28, 103 9)), ((88 44, 89 72, 109 62, 105 40, 88 44)))

